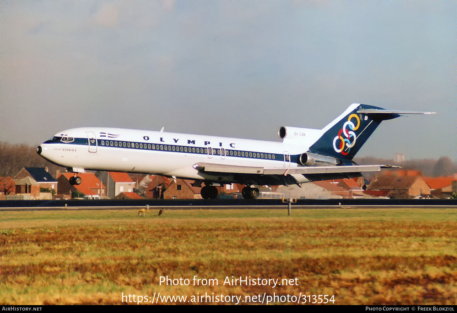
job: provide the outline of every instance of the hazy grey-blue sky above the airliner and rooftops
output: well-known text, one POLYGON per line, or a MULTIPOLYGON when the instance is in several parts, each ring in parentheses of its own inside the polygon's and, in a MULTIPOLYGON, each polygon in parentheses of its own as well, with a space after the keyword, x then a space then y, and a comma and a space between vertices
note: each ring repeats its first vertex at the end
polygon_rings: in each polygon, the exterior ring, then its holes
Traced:
POLYGON ((457 161, 455 1, 1 1, 0 140, 109 126, 279 140, 351 103, 436 111, 356 155, 457 161))

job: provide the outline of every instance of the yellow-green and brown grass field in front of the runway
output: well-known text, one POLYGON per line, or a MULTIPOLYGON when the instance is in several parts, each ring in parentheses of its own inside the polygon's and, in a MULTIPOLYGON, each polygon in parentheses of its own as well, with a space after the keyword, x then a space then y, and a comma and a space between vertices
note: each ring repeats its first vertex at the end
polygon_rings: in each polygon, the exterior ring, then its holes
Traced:
POLYGON ((155 214, 0 212, 0 303, 457 303, 456 209, 155 214))

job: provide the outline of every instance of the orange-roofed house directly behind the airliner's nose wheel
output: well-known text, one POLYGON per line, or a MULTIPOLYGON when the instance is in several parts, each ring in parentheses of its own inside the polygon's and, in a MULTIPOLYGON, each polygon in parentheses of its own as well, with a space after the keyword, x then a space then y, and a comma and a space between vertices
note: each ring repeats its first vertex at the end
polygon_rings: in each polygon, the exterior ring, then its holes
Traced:
POLYGON ((106 187, 93 173, 80 173, 80 185, 70 185, 69 179, 72 176, 73 173, 63 173, 57 178, 59 195, 71 195, 72 198, 98 195, 100 198, 106 198, 106 187))

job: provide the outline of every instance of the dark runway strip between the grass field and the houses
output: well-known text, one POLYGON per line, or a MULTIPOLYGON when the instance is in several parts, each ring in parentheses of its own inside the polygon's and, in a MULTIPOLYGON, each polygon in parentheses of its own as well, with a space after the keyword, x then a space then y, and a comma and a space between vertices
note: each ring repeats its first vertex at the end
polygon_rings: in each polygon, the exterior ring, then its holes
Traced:
MULTIPOLYGON (((291 203, 296 209, 325 208, 457 208, 451 199, 298 199, 291 203)), ((139 209, 287 209, 289 202, 281 199, 185 199, 185 200, 3 200, 0 211, 11 210, 119 210, 139 209)))

